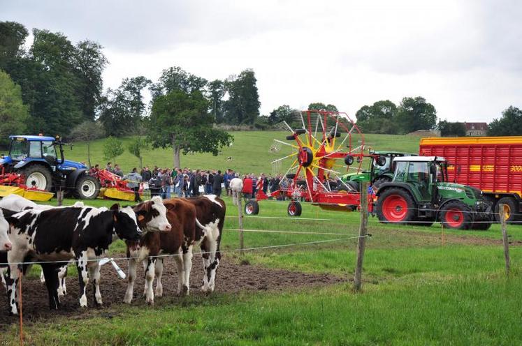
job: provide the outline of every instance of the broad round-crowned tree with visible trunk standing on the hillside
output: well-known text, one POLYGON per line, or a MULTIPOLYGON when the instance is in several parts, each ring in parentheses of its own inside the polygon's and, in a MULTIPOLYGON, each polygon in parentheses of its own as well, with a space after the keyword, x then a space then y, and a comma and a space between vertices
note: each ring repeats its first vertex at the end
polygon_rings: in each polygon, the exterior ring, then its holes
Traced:
POLYGON ((174 167, 181 167, 180 153, 212 153, 229 145, 233 138, 213 128, 214 116, 208 112, 208 100, 201 91, 186 93, 180 89, 158 96, 147 121, 147 140, 152 146, 171 147, 174 167))

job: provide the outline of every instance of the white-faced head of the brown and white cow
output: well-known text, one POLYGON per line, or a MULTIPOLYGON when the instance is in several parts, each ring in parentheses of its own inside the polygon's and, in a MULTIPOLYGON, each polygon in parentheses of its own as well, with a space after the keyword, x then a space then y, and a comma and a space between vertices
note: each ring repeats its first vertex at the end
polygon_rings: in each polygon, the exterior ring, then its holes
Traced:
POLYGON ((171 224, 167 220, 167 209, 161 197, 154 196, 150 201, 133 206, 138 225, 146 232, 169 232, 171 224))

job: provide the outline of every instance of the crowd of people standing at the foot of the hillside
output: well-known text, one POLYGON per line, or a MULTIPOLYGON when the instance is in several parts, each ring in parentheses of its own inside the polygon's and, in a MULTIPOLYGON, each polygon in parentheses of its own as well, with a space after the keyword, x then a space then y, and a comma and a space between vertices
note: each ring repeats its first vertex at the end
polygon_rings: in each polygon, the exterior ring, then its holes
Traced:
MULTIPOLYGON (((279 190, 279 183, 282 176, 270 176, 266 174, 243 174, 242 176, 234 170, 228 169, 225 172, 221 170, 191 170, 187 167, 183 169, 175 167, 159 168, 154 166, 150 170, 148 166, 138 173, 136 167, 129 174, 124 174, 119 165, 109 162, 105 170, 116 174, 127 181, 127 187, 136 194, 136 202, 140 202, 140 183, 145 183, 145 189, 150 190, 152 196, 161 196, 162 198, 171 197, 194 197, 198 195, 217 195, 223 194, 227 196, 233 195, 233 188, 240 190, 245 197, 254 197, 257 190, 263 190, 263 193, 273 193, 279 190), (241 183, 232 183, 233 179, 240 179, 241 183)), ((95 174, 100 170, 99 165, 91 167, 91 174, 95 174)))

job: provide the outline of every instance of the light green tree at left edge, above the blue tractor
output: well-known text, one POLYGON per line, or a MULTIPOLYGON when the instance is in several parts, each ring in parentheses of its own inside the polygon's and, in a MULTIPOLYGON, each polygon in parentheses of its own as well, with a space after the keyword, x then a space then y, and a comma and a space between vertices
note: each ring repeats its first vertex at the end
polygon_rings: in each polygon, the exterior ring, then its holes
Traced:
POLYGON ((0 70, 0 144, 9 143, 9 135, 24 133, 29 121, 22 90, 9 75, 0 70))

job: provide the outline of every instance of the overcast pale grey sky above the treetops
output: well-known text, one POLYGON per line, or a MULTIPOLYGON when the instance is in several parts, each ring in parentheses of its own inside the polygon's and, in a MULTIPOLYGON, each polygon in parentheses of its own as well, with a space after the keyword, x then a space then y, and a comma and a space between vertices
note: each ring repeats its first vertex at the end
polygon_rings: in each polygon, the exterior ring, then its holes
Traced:
POLYGON ((423 96, 450 121, 522 108, 521 18, 516 0, 0 0, 0 20, 101 43, 104 87, 170 66, 208 80, 252 68, 261 114, 423 96))

